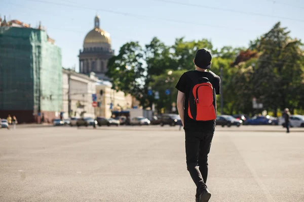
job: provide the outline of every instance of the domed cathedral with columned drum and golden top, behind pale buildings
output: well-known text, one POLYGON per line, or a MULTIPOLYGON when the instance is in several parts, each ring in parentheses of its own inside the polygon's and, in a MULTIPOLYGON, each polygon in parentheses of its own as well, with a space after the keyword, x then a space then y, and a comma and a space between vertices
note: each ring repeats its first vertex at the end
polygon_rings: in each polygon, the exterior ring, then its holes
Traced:
POLYGON ((99 16, 96 15, 94 28, 86 35, 84 47, 79 53, 80 73, 94 72, 99 79, 109 80, 105 73, 112 56, 110 34, 100 29, 99 16))

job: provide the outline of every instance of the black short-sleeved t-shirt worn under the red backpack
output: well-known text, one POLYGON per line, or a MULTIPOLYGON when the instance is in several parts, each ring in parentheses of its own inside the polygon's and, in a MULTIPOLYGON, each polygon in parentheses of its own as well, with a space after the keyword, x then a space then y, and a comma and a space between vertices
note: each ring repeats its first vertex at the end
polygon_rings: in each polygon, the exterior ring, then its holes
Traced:
MULTIPOLYGON (((197 78, 207 77, 210 83, 213 85, 216 94, 220 94, 220 78, 213 72, 200 72, 200 71, 192 71, 195 72, 197 78)), ((215 130, 215 120, 212 121, 195 121, 188 116, 188 100, 189 93, 192 88, 192 80, 189 78, 189 75, 185 72, 181 75, 178 83, 176 84, 176 88, 185 93, 185 103, 184 103, 184 130, 185 131, 204 131, 213 133, 215 130)), ((215 97, 216 99, 216 97, 215 97)), ((215 100, 215 112, 216 112, 216 100, 215 100)))

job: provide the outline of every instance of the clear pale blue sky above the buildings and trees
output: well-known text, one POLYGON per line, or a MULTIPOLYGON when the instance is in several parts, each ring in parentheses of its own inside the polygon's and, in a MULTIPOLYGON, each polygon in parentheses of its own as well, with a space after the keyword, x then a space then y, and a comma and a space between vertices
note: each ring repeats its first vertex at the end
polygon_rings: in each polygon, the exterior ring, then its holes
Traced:
POLYGON ((175 38, 207 38, 216 48, 248 46, 281 21, 291 36, 304 39, 302 0, 0 0, 0 15, 36 27, 41 21, 61 48, 62 66, 79 70, 78 54, 94 27, 110 33, 117 54, 128 41, 148 44, 156 36, 167 45, 175 38))

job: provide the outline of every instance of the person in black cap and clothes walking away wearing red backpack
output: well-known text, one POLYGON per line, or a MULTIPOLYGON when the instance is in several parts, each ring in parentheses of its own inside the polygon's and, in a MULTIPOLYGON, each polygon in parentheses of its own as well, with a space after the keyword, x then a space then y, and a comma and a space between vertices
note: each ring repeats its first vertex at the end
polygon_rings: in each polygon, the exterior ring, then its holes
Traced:
POLYGON ((196 53, 195 70, 185 72, 176 84, 177 109, 185 131, 186 164, 196 184, 196 202, 207 202, 208 154, 215 131, 216 96, 220 78, 211 71, 211 52, 202 48, 196 53))

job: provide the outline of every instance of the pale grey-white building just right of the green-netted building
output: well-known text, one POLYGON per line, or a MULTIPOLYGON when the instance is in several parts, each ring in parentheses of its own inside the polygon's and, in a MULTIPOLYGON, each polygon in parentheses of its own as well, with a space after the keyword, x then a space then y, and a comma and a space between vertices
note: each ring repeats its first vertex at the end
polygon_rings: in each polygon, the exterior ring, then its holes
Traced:
POLYGON ((92 94, 96 93, 97 81, 93 72, 88 76, 69 69, 62 70, 63 118, 95 117, 92 94))

